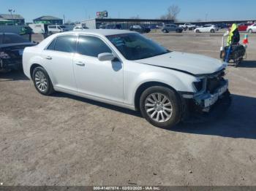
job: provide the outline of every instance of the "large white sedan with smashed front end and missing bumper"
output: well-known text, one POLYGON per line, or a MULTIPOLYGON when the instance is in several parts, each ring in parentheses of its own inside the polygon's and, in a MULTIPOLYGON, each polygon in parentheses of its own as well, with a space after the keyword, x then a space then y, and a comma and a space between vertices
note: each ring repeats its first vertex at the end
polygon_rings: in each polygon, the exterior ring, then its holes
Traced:
POLYGON ((23 52, 24 73, 42 95, 60 91, 139 110, 161 128, 176 125, 187 109, 207 112, 229 95, 225 67, 121 30, 53 34, 23 52))

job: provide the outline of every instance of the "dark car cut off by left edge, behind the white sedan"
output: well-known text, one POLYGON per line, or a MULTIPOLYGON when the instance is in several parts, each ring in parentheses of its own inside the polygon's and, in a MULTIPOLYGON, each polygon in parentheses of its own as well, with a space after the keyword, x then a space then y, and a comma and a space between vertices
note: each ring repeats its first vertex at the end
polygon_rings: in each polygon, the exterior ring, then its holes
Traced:
POLYGON ((34 45, 18 34, 0 33, 0 71, 22 69, 23 50, 34 45))

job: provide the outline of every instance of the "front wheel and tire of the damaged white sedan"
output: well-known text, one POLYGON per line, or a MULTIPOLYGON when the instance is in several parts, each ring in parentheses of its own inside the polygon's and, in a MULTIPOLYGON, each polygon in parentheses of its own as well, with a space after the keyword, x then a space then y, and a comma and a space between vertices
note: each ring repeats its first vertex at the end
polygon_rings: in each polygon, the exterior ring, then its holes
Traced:
POLYGON ((140 95, 140 112, 152 125, 172 128, 181 120, 181 98, 168 87, 149 87, 140 95))

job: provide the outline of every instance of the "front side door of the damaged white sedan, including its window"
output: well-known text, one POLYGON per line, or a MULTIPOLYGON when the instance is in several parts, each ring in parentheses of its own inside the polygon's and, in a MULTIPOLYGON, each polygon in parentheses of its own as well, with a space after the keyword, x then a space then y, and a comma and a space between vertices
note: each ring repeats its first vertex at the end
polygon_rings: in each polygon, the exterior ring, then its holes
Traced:
POLYGON ((99 61, 100 53, 113 52, 98 36, 80 35, 74 74, 78 92, 123 102, 123 65, 121 61, 99 61))

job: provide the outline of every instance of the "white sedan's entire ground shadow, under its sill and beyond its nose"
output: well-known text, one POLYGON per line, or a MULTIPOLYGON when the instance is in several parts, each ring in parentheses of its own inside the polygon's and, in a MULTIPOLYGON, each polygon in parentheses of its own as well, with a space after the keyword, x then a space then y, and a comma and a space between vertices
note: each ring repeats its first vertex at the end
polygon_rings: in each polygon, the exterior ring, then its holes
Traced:
MULTIPOLYGON (((71 98, 95 106, 105 107, 116 112, 142 117, 140 112, 92 101, 67 93, 56 93, 53 96, 71 98)), ((189 120, 176 125, 176 127, 165 130, 229 138, 256 139, 256 98, 244 95, 231 96, 233 101, 228 109, 217 106, 209 114, 195 114, 189 120)))

